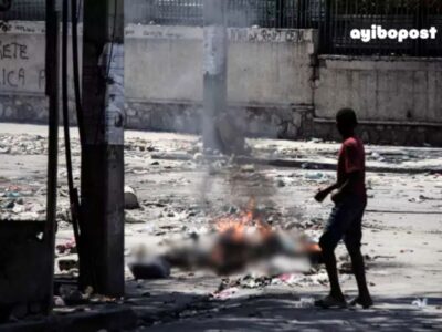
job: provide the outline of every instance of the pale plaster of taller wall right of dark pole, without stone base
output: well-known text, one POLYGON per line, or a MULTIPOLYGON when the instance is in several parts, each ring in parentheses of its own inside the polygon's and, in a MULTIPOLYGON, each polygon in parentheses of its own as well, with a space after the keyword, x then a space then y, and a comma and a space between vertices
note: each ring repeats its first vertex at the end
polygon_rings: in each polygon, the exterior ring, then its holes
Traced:
MULTIPOLYGON (((129 101, 202 101, 201 28, 126 29, 129 101), (146 84, 148 82, 148 84, 146 84)), ((229 30, 228 94, 241 104, 312 104, 313 30, 229 30)))

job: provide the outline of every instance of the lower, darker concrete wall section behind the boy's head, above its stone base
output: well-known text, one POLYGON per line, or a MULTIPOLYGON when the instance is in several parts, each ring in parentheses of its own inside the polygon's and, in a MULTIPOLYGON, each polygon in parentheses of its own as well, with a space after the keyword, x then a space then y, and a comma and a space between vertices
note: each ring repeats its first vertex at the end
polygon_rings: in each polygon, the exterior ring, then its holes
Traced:
POLYGON ((352 107, 362 121, 442 125, 442 59, 319 58, 316 116, 352 107))

